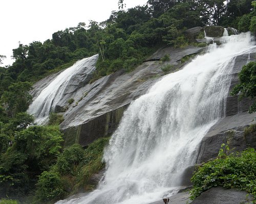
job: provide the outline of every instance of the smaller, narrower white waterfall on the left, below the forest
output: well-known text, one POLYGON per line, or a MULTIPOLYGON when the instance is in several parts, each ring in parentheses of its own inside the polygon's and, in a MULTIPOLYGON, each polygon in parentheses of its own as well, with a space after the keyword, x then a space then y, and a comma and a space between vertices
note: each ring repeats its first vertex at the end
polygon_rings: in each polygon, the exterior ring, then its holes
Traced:
MULTIPOLYGON (((72 86, 72 81, 80 75, 88 77, 95 70, 95 61, 98 55, 84 58, 77 61, 73 66, 62 71, 57 77, 33 100, 29 106, 28 113, 34 115, 37 123, 43 123, 54 111, 56 105, 67 94, 68 86, 72 86)), ((84 80, 84 79, 83 79, 84 80)))

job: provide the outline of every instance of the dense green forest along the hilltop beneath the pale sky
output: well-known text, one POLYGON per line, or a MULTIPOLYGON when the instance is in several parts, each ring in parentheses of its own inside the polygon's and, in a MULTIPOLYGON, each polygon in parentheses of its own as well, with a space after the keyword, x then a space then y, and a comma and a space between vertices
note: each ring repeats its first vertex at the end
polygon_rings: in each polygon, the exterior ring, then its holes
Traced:
MULTIPOLYGON (((223 25, 255 32, 255 1, 148 0, 145 6, 113 11, 103 22, 57 31, 44 43, 34 41, 13 49, 15 62, 0 67, 1 91, 11 83, 35 82, 67 68, 76 60, 99 54, 92 82, 119 69, 132 70, 160 45, 186 46, 183 31, 204 25, 223 25)), ((119 6, 124 6, 119 1, 119 6)), ((0 63, 5 56, 0 55, 0 63)), ((0 92, 2 94, 2 92, 0 92)))

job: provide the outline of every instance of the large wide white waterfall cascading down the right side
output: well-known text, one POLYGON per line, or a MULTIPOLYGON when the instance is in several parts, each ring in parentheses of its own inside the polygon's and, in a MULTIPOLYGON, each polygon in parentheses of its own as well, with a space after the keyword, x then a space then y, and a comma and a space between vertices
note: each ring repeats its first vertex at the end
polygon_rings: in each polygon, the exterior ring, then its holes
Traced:
POLYGON ((149 203, 179 186, 203 136, 225 114, 234 59, 254 44, 249 33, 225 38, 135 100, 105 149, 98 189, 57 203, 149 203))

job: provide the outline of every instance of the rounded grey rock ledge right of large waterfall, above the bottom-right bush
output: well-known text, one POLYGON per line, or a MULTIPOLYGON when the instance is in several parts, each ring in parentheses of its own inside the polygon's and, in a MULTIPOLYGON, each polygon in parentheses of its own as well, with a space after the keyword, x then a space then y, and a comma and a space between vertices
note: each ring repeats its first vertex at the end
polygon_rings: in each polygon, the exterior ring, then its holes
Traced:
POLYGON ((242 151, 247 147, 256 148, 256 131, 244 134, 244 129, 253 123, 255 117, 256 113, 244 112, 219 120, 203 138, 197 163, 216 158, 223 143, 228 144, 232 151, 242 151))

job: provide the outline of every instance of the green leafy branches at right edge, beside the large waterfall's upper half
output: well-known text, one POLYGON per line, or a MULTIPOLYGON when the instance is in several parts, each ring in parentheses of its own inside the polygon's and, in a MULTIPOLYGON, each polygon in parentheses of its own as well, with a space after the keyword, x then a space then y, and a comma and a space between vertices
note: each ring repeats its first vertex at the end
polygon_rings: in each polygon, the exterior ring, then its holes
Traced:
MULTIPOLYGON (((244 65, 239 72, 240 83, 234 86, 231 91, 231 95, 239 95, 240 99, 244 97, 255 98, 256 97, 256 62, 249 62, 244 65)), ((254 102, 250 108, 249 113, 256 111, 256 102, 254 102)))

